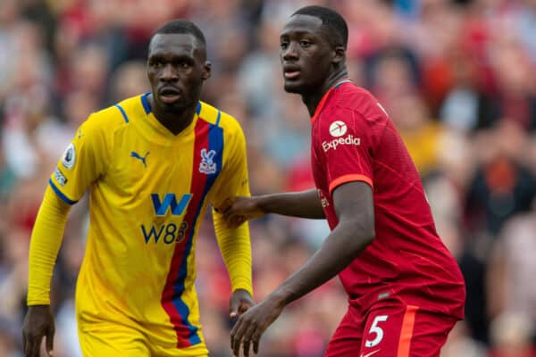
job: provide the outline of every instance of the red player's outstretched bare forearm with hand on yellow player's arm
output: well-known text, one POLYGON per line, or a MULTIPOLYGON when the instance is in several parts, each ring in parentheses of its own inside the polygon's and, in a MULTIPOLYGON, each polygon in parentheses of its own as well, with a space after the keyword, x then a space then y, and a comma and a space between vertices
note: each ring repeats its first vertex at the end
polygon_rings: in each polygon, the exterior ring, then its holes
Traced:
POLYGON ((263 217, 267 213, 284 216, 324 219, 322 203, 316 189, 271 195, 240 196, 227 199, 218 211, 231 227, 245 220, 263 217))

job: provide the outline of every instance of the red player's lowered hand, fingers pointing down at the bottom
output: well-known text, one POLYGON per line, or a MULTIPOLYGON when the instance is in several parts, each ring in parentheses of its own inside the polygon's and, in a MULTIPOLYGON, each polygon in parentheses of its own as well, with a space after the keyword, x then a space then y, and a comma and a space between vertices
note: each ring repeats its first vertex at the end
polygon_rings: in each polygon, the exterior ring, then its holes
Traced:
POLYGON ((240 345, 244 356, 249 356, 249 346, 253 342, 253 352, 259 352, 259 343, 264 330, 281 315, 285 305, 274 299, 266 299, 244 312, 230 331, 230 348, 239 356, 240 345))

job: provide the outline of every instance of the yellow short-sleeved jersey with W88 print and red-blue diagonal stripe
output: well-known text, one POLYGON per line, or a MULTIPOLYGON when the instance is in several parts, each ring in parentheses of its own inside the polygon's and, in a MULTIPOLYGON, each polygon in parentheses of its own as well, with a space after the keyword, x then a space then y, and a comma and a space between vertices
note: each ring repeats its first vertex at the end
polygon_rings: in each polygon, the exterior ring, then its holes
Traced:
POLYGON ((88 189, 78 319, 83 326, 135 321, 159 343, 198 345, 191 355, 203 354, 197 228, 209 203, 249 195, 246 142, 237 120, 203 102, 188 128, 173 135, 147 95, 90 115, 49 181, 67 203, 88 189))

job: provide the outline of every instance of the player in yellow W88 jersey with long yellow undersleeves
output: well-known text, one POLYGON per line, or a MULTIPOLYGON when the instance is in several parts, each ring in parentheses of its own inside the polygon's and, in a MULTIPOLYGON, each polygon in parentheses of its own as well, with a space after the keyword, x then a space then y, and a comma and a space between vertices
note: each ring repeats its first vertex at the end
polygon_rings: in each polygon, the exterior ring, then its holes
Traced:
MULTIPOLYGON (((90 225, 76 289, 84 356, 206 356, 194 281, 196 233, 209 204, 249 195, 237 120, 199 101, 211 74, 205 37, 175 20, 152 37, 151 92, 89 116, 57 164, 29 249, 24 353, 51 353, 54 261, 71 204, 88 190, 90 225)), ((253 304, 246 226, 213 211, 232 286, 230 314, 253 304)))

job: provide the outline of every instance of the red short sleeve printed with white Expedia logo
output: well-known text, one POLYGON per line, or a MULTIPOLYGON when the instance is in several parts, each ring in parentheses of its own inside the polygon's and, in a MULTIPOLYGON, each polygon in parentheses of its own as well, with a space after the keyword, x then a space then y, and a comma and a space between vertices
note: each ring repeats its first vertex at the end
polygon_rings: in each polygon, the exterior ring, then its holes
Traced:
POLYGON ((370 156, 368 122, 359 112, 339 110, 322 118, 319 130, 330 195, 339 185, 363 181, 373 187, 373 165, 370 156))

